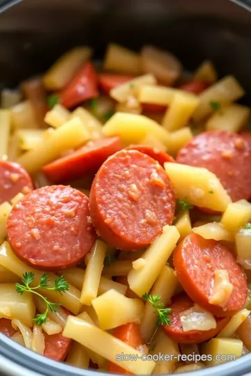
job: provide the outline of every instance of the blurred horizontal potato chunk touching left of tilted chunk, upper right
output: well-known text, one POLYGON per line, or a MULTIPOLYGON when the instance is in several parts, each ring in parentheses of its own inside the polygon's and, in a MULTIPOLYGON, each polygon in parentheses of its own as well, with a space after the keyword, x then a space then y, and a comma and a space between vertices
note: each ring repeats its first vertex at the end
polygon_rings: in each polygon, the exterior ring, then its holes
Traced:
POLYGON ((138 100, 140 103, 161 104, 169 106, 176 93, 181 93, 176 88, 167 88, 157 85, 142 85, 138 91, 138 100))

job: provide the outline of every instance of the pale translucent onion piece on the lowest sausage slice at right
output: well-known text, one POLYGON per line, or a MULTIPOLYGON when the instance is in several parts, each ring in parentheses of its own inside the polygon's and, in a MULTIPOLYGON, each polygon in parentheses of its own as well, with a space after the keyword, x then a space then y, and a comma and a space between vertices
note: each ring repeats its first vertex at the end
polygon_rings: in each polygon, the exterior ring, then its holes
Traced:
POLYGON ((180 313, 183 331, 215 329, 217 323, 213 315, 195 304, 193 307, 180 313))

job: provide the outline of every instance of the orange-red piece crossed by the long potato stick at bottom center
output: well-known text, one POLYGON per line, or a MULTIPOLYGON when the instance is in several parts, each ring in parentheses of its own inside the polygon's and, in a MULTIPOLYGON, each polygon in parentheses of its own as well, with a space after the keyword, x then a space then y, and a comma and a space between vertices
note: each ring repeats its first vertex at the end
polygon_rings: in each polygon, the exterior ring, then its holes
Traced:
MULTIPOLYGON (((134 349, 139 348, 140 346, 144 345, 144 339, 140 333, 139 324, 135 324, 135 322, 129 322, 126 325, 121 325, 121 327, 117 327, 114 329, 113 336, 119 338, 127 345, 133 347, 134 349)), ((112 363, 112 361, 108 362, 107 370, 111 373, 119 373, 122 375, 132 375, 127 370, 117 366, 116 364, 112 363)))

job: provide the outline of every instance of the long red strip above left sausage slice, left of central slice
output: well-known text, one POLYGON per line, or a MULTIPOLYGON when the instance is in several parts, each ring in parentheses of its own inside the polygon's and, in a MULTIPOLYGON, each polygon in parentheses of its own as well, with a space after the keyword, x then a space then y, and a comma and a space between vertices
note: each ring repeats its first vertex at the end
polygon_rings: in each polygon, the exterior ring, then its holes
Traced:
POLYGON ((82 178, 86 173, 96 173, 101 164, 121 148, 121 139, 117 136, 91 141, 76 152, 47 164, 43 172, 54 183, 82 178))

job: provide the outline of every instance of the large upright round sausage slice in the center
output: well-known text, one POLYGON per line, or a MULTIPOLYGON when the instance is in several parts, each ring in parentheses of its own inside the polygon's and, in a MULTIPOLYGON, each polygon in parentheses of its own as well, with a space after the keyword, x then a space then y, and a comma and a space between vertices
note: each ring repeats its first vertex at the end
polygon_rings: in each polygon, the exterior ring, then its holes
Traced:
POLYGON ((118 249, 148 246, 174 219, 175 198, 164 169, 137 150, 109 157, 90 193, 91 219, 98 235, 118 249))

